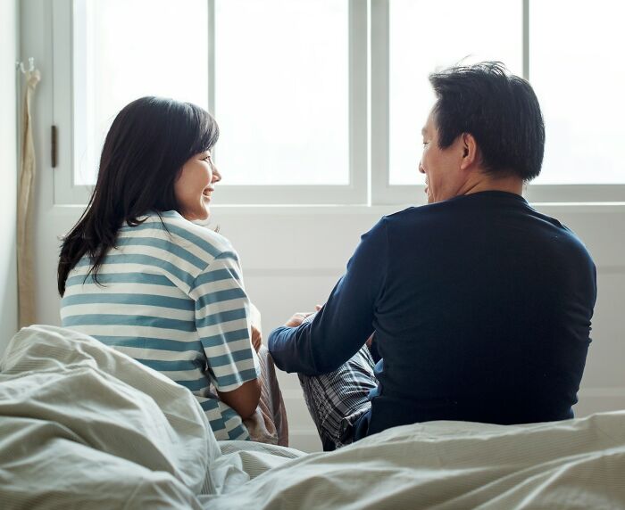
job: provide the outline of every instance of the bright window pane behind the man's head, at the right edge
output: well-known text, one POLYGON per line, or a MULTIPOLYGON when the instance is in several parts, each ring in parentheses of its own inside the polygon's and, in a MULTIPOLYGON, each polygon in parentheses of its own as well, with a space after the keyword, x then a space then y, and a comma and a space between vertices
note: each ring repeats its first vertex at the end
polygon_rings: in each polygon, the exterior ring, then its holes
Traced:
POLYGON ((529 79, 546 124, 534 182, 625 184, 625 7, 612 0, 529 5, 529 79))

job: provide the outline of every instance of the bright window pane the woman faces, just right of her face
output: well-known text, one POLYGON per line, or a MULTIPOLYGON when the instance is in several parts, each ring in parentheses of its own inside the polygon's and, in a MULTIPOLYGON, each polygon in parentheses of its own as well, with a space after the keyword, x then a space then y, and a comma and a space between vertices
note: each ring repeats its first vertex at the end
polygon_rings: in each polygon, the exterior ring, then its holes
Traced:
POLYGON ((349 184, 347 0, 216 0, 226 185, 349 184))

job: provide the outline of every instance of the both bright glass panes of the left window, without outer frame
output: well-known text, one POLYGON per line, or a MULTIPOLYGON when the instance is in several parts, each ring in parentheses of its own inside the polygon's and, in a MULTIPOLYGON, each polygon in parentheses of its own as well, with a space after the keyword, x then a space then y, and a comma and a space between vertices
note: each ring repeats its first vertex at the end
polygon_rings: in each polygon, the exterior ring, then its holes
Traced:
POLYGON ((75 0, 74 19, 76 184, 142 95, 213 112, 224 185, 349 184, 347 2, 218 0, 212 83, 205 0, 75 0))

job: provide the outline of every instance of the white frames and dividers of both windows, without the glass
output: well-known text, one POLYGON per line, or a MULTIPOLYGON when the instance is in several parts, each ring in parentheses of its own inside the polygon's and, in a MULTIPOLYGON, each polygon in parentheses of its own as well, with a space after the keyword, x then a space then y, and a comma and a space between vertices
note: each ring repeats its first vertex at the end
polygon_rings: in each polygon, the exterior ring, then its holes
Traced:
MULTIPOLYGON (((208 4, 209 110, 214 101, 214 1, 208 4)), ((523 77, 529 78, 529 2, 522 3, 523 77)), ((423 185, 390 185, 389 174, 389 2, 349 2, 349 184, 220 185, 223 205, 397 205, 426 203, 423 185), (371 85, 371 89, 369 86, 371 85), (371 110, 370 110, 371 105, 371 110), (370 117, 371 116, 371 117, 370 117), (259 193, 262 192, 262 193, 259 193)), ((53 106, 58 132, 54 203, 84 205, 93 186, 73 183, 72 0, 51 0, 53 106)), ((219 116, 219 112, 217 112, 219 116)), ((219 152, 219 145, 216 147, 219 152)), ((414 171, 420 149, 415 144, 414 171)), ((218 156, 219 158, 219 156, 218 156)), ((625 202, 625 185, 532 185, 529 202, 625 202)))

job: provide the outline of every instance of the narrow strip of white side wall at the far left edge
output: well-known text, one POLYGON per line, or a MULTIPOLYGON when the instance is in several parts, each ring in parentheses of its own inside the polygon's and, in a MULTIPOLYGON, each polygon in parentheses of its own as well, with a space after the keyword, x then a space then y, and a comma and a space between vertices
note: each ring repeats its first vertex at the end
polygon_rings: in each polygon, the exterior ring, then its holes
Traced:
POLYGON ((0 0, 0 352, 17 331, 17 1, 0 0))

